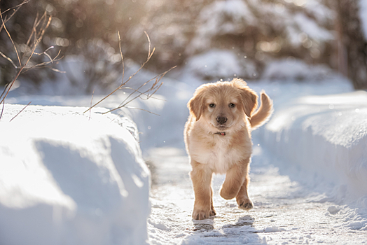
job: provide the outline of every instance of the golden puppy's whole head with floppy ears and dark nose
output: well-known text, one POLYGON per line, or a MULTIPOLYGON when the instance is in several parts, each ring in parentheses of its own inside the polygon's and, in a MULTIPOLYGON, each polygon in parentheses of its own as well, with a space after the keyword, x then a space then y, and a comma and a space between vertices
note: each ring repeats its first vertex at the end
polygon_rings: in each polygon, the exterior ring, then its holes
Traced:
POLYGON ((244 80, 207 83, 195 91, 188 109, 198 121, 204 120, 211 131, 227 131, 257 107, 257 94, 244 80))

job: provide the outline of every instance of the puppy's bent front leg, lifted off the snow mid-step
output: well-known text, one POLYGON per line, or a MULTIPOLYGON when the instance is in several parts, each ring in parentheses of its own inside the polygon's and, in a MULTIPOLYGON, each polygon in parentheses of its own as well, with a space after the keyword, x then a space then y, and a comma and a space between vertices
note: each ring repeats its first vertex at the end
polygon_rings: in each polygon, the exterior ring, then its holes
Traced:
MULTIPOLYGON (((226 200, 233 199, 240 192, 245 176, 249 171, 250 158, 246 158, 241 162, 237 162, 230 169, 228 169, 226 174, 226 179, 223 182, 220 195, 226 200)), ((247 187, 247 185, 246 185, 247 187)))

